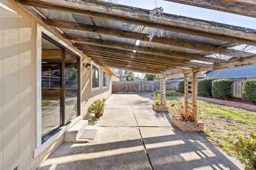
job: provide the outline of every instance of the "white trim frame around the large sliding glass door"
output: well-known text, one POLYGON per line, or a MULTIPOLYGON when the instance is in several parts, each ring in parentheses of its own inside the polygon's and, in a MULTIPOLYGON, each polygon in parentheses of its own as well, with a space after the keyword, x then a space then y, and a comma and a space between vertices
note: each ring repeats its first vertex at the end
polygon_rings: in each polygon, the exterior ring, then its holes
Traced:
POLYGON ((42 144, 42 32, 56 42, 64 45, 67 49, 70 49, 70 51, 77 54, 79 57, 82 57, 78 51, 68 46, 68 44, 54 36, 40 24, 36 24, 36 148, 33 150, 33 158, 39 156, 46 148, 64 135, 70 127, 82 119, 81 115, 76 117, 70 123, 61 127, 56 134, 42 144))

